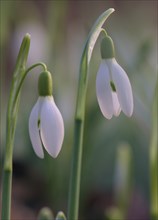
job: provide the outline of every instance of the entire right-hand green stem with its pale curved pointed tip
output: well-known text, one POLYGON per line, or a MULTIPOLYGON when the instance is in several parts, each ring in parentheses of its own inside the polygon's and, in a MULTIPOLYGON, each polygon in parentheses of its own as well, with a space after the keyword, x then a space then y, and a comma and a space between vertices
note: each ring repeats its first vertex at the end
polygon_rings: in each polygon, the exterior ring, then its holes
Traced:
POLYGON ((102 13, 96 20, 88 35, 81 57, 69 188, 68 220, 78 219, 88 68, 96 40, 98 39, 100 32, 103 30, 102 25, 112 12, 114 12, 114 9, 110 8, 102 13))

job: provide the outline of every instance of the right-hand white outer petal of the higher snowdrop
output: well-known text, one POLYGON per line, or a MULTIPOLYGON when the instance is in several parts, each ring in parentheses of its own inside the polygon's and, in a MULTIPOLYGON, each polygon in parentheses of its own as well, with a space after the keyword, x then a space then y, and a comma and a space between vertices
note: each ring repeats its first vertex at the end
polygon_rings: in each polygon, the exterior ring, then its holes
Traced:
POLYGON ((133 113, 133 94, 128 76, 115 59, 112 60, 110 69, 121 109, 130 117, 133 113))

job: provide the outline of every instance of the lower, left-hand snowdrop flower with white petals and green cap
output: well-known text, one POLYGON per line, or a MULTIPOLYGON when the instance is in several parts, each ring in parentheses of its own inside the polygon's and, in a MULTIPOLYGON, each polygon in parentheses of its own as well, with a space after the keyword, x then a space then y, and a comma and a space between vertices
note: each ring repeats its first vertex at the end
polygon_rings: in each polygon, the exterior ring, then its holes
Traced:
POLYGON ((48 71, 40 74, 38 88, 39 98, 29 118, 31 143, 38 157, 44 157, 44 147, 56 158, 64 139, 64 123, 52 96, 52 78, 48 71))

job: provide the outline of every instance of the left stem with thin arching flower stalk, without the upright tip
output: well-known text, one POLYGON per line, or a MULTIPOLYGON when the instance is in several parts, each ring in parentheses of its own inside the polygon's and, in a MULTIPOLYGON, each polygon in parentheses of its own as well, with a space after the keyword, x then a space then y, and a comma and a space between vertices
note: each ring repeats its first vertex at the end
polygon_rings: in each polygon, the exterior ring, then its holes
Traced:
POLYGON ((10 98, 8 102, 7 111, 7 129, 6 129, 6 149, 5 149, 5 159, 3 168, 3 184, 2 184, 2 220, 10 219, 11 210, 11 191, 12 191, 12 161, 13 161, 13 145, 15 128, 18 114, 20 91, 24 79, 28 72, 37 66, 42 66, 46 70, 46 66, 43 63, 37 63, 29 67, 23 72, 21 79, 14 83, 16 87, 12 86, 10 92, 10 98), (13 95, 12 95, 13 94, 13 95))

